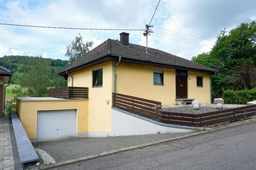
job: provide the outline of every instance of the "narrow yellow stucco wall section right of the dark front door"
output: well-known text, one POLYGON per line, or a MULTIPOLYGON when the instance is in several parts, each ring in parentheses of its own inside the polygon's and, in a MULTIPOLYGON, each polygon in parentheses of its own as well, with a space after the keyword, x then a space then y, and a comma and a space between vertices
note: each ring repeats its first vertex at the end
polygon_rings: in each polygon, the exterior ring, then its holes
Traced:
POLYGON ((187 96, 200 100, 202 104, 210 104, 210 74, 200 72, 187 72, 187 96), (203 76, 203 87, 196 86, 196 76, 203 76))

